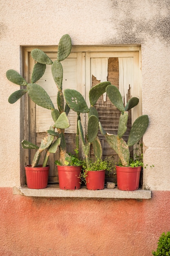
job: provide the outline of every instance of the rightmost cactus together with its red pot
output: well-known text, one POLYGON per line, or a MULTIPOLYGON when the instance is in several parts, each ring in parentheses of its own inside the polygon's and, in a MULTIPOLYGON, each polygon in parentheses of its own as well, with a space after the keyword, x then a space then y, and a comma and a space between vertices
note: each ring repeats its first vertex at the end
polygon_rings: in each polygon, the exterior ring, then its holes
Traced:
POLYGON ((148 115, 142 115, 135 120, 126 143, 123 135, 127 130, 128 111, 138 104, 139 99, 132 97, 124 107, 121 94, 116 86, 108 85, 106 92, 110 101, 121 111, 117 135, 107 133, 99 122, 102 135, 106 137, 108 144, 115 150, 121 160, 121 166, 116 165, 117 187, 125 191, 137 190, 139 189, 139 177, 143 163, 139 161, 130 163, 129 147, 135 145, 146 132, 149 123, 148 115))

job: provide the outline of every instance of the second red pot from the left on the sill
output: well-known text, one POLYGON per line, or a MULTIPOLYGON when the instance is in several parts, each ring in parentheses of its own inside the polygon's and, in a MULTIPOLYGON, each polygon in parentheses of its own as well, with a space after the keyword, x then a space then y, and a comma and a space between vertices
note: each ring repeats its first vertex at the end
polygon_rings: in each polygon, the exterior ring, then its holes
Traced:
POLYGON ((60 189, 80 189, 80 173, 82 166, 60 166, 57 165, 60 189))

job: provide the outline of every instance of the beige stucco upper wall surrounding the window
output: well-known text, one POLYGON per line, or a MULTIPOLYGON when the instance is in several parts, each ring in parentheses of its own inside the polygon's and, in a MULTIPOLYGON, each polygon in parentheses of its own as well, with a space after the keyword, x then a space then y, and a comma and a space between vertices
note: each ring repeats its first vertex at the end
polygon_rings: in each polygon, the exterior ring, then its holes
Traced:
POLYGON ((144 184, 170 190, 170 4, 168 0, 1 0, 0 1, 0 186, 20 185, 20 103, 5 76, 20 72, 20 45, 57 45, 69 34, 73 45, 141 44, 144 184))

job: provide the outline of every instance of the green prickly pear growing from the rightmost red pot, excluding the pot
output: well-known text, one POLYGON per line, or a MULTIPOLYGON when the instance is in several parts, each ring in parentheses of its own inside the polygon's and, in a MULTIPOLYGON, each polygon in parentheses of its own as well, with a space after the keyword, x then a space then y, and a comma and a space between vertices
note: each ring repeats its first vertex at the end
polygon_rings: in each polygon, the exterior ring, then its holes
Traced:
POLYGON ((132 124, 132 128, 130 130, 130 134, 128 137, 128 142, 124 141, 123 135, 127 130, 127 122, 128 122, 128 110, 135 107, 139 99, 136 97, 132 97, 126 106, 124 107, 124 103, 121 97, 121 94, 116 86, 108 85, 106 87, 107 95, 110 101, 115 105, 115 107, 121 111, 121 115, 119 118, 119 127, 117 131, 117 135, 109 134, 106 132, 102 124, 99 122, 99 128, 102 133, 106 137, 108 144, 115 150, 119 158, 121 159, 121 163, 123 166, 128 166, 130 160, 130 151, 129 147, 135 145, 143 137, 146 129, 148 128, 149 119, 148 115, 142 115, 138 117, 135 122, 132 124))

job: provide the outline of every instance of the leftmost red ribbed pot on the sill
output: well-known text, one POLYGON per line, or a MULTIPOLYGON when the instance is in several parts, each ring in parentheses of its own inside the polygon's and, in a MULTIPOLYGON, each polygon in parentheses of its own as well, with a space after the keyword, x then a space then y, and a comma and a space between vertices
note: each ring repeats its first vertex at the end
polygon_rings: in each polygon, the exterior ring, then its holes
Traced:
POLYGON ((48 184, 50 166, 25 166, 26 182, 29 189, 45 189, 48 184))

